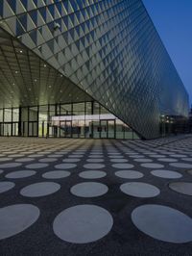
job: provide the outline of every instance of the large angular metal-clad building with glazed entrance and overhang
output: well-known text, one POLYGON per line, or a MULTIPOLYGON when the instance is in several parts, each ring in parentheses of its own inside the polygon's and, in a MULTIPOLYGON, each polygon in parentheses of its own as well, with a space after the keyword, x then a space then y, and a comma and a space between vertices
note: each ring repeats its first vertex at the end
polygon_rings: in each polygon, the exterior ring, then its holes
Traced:
POLYGON ((153 139, 188 115, 141 0, 1 0, 0 91, 1 136, 153 139))

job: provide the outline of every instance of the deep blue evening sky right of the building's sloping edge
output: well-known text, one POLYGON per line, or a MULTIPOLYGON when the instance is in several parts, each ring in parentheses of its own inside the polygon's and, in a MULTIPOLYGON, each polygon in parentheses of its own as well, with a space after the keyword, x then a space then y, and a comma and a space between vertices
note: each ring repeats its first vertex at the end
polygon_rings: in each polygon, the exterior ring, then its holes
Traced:
MULTIPOLYGON (((143 0, 192 103, 192 0, 143 0)), ((173 92, 174 93, 174 92, 173 92)))

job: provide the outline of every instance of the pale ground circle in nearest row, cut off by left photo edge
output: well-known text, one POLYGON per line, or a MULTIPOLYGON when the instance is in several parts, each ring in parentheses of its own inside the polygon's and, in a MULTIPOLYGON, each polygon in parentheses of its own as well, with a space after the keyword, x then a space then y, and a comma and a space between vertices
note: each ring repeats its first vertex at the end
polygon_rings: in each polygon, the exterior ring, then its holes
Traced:
POLYGON ((36 222, 40 212, 32 204, 14 204, 0 208, 0 240, 10 238, 36 222))

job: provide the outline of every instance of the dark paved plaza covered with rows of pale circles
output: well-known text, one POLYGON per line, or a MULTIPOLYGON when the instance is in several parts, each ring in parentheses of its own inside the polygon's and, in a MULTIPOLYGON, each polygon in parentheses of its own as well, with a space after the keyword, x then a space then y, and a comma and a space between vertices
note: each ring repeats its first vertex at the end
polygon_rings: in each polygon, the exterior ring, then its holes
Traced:
POLYGON ((192 255, 192 136, 0 138, 0 255, 192 255))

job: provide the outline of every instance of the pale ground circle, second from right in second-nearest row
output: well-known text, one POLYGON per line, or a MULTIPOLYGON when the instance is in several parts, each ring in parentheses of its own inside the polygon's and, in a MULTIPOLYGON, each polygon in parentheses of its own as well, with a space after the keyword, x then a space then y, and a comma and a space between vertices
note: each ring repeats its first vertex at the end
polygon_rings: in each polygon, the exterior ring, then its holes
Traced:
POLYGON ((135 197, 154 197, 160 191, 151 184, 143 182, 127 182, 120 186, 120 190, 135 197))

